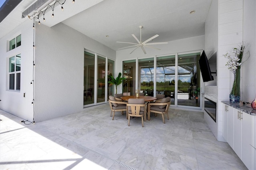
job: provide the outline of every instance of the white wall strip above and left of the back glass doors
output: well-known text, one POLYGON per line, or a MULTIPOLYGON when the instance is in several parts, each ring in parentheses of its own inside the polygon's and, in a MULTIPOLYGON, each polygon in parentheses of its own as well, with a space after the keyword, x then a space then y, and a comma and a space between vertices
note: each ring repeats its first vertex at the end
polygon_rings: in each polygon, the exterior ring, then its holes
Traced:
MULTIPOLYGON (((154 45, 157 47, 156 45, 154 45)), ((142 49, 138 48, 130 54, 132 49, 125 49, 116 51, 116 70, 115 73, 122 73, 122 61, 136 59, 141 57, 154 57, 156 55, 168 55, 172 53, 194 51, 204 49, 204 35, 196 36, 191 38, 185 38, 175 41, 170 41, 168 44, 161 44, 159 47, 161 50, 146 48, 146 54, 143 53, 142 49)), ((122 93, 122 87, 118 87, 118 93, 122 93)))

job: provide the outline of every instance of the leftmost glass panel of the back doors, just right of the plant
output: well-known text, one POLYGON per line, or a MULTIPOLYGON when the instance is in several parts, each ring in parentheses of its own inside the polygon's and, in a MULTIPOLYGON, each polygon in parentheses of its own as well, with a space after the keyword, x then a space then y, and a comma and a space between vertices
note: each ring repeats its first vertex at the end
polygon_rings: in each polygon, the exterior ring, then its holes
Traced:
POLYGON ((126 96, 135 95, 136 86, 136 60, 123 61, 123 94, 126 96))

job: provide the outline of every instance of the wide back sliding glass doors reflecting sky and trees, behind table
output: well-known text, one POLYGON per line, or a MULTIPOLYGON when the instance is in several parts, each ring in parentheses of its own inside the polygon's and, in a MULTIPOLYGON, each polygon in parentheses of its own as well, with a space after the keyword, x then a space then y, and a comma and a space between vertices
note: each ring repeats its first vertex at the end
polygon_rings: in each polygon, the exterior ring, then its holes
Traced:
POLYGON ((135 89, 140 89, 149 96, 164 94, 171 98, 173 106, 200 108, 199 58, 200 52, 196 51, 123 61, 123 75, 129 82, 123 83, 124 92, 134 95, 135 89), (136 65, 138 75, 135 78, 136 65), (131 78, 133 83, 130 83, 131 78))

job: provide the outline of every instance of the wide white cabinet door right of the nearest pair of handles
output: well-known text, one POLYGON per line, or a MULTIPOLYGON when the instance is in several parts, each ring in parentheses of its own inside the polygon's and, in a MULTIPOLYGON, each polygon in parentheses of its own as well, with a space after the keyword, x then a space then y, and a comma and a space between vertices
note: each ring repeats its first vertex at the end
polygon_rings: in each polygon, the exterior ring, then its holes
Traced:
POLYGON ((253 155, 253 144, 252 144, 252 123, 253 116, 242 112, 242 161, 245 166, 252 169, 252 155, 253 155))

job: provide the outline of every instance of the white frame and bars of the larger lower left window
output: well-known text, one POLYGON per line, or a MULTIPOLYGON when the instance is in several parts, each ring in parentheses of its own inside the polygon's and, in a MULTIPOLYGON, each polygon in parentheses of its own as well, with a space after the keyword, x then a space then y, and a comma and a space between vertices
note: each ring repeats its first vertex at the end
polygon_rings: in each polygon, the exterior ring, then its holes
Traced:
MULTIPOLYGON (((8 57, 8 70, 7 70, 7 72, 8 72, 8 90, 10 90, 10 91, 20 91, 20 89, 17 89, 17 74, 18 73, 20 73, 20 70, 19 71, 16 71, 16 59, 17 59, 17 57, 21 57, 21 53, 19 53, 19 54, 17 54, 17 55, 14 55, 14 56, 11 56, 11 57, 8 57), (10 67, 10 58, 12 58, 12 57, 14 57, 14 71, 12 71, 12 72, 10 72, 9 71, 9 67, 10 67), (11 74, 14 74, 14 89, 10 89, 10 75, 11 74)), ((20 66, 21 66, 21 64, 20 64, 20 66)), ((21 74, 21 73, 20 73, 21 74)))

